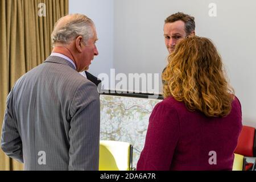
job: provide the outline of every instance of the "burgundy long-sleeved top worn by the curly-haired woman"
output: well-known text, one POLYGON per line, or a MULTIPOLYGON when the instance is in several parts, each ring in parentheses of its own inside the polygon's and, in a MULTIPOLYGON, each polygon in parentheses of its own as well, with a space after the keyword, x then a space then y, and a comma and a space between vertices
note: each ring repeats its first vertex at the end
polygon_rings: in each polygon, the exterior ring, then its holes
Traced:
POLYGON ((226 117, 206 117, 168 97, 149 119, 137 170, 232 170, 242 129, 240 101, 226 117))

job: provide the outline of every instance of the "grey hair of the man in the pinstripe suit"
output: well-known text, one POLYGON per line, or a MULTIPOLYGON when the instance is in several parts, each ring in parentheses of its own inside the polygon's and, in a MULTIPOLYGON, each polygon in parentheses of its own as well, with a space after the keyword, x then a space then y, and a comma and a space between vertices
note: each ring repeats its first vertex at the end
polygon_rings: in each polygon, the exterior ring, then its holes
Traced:
POLYGON ((53 46, 56 43, 69 44, 71 40, 82 36, 83 42, 86 44, 87 40, 94 35, 93 21, 82 14, 72 14, 60 18, 53 28, 51 39, 53 46), (67 23, 63 23, 63 19, 70 17, 67 23))

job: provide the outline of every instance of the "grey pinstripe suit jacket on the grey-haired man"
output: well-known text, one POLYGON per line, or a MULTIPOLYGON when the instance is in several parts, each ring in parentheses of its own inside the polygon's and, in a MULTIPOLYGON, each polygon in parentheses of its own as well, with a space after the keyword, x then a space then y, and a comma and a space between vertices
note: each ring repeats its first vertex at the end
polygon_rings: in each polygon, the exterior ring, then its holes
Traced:
POLYGON ((98 170, 99 141, 97 87, 69 61, 49 56, 16 81, 1 147, 25 170, 98 170))

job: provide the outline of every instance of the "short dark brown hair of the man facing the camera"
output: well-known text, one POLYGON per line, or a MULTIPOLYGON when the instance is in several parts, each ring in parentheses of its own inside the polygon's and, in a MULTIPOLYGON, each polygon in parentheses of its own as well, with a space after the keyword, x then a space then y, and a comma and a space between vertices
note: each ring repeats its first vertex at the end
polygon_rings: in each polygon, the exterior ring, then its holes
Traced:
POLYGON ((178 12, 178 13, 168 16, 164 20, 164 23, 173 23, 173 22, 176 22, 177 20, 181 20, 185 23, 186 34, 190 35, 193 31, 195 31, 195 28, 196 28, 196 23, 195 23, 194 19, 195 18, 191 15, 187 15, 187 14, 178 12))

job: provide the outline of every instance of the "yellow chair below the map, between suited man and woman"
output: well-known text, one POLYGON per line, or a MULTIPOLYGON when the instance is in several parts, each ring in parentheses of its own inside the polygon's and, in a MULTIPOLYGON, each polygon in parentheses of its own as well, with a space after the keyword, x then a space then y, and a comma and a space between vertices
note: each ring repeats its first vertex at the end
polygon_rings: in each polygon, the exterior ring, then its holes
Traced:
POLYGON ((100 140, 100 171, 130 171, 133 146, 127 142, 100 140))

